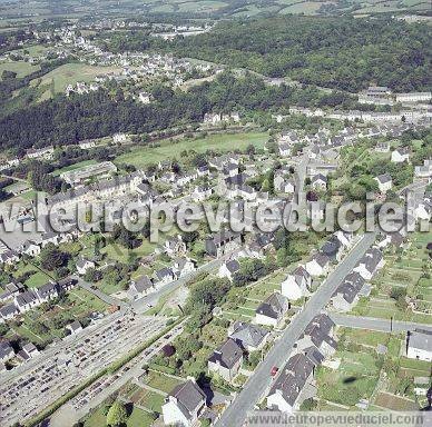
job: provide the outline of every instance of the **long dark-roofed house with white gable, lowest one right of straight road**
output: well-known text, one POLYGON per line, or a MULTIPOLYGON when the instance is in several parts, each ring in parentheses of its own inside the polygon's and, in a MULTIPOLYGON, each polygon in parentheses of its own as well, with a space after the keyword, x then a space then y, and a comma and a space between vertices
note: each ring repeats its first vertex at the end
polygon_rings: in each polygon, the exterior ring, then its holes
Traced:
POLYGON ((312 385, 315 367, 315 363, 304 354, 291 357, 269 389, 267 408, 288 414, 298 410, 311 397, 307 385, 312 385))

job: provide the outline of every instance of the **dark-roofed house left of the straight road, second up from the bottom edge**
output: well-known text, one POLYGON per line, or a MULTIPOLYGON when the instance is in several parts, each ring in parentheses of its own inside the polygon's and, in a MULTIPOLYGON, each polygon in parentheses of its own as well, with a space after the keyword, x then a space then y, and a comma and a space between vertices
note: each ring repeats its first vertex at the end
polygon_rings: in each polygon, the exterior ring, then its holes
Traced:
POLYGON ((226 381, 230 383, 238 374, 243 364, 243 350, 232 338, 228 338, 220 347, 213 351, 208 358, 207 367, 209 373, 218 374, 226 381))

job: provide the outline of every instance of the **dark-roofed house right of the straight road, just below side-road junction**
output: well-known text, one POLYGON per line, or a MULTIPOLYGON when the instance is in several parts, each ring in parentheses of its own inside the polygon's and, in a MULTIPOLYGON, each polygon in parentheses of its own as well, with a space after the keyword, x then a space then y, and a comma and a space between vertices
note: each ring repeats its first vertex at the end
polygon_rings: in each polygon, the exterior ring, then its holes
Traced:
POLYGON ((297 340, 297 349, 302 351, 315 346, 325 357, 332 356, 337 347, 337 342, 333 338, 335 326, 335 322, 327 315, 315 316, 297 340))

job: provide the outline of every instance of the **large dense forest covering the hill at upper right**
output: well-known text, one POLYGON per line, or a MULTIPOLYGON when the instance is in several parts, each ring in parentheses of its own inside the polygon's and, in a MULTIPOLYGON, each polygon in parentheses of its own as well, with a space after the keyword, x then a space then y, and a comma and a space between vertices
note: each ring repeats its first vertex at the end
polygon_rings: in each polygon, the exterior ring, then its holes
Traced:
POLYGON ((269 77, 356 92, 371 83, 431 90, 432 28, 389 18, 283 17, 222 21, 210 32, 171 42, 137 32, 114 50, 165 49, 269 77))

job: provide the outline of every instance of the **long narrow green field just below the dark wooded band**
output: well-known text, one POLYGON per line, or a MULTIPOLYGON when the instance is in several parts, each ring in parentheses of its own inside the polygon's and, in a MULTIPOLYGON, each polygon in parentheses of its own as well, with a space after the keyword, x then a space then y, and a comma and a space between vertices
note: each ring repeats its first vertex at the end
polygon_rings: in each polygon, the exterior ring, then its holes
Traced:
POLYGON ((179 158, 184 150, 204 152, 206 150, 244 150, 248 145, 263 148, 268 136, 265 132, 212 135, 200 139, 187 139, 179 142, 163 141, 160 147, 139 147, 130 152, 117 157, 117 163, 128 163, 135 167, 145 168, 150 163, 157 163, 167 158, 179 158))

